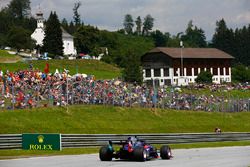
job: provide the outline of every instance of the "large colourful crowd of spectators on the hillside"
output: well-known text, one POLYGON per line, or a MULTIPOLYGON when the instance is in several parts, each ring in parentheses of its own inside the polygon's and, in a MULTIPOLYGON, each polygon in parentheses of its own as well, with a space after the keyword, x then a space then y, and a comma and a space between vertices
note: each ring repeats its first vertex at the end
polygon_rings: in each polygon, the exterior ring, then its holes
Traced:
MULTIPOLYGON (((245 85, 192 85, 187 89, 248 90, 245 85)), ((51 74, 39 70, 0 71, 0 107, 23 109, 72 104, 161 107, 179 110, 250 111, 248 99, 182 93, 181 88, 137 85, 121 80, 96 80, 67 70, 51 74)))

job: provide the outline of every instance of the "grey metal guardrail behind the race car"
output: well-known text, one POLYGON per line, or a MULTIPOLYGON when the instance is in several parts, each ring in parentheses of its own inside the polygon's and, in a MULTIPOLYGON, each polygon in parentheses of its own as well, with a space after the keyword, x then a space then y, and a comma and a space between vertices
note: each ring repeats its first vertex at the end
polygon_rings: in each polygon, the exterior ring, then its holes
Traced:
MULTIPOLYGON (((62 134, 62 148, 93 147, 137 136, 151 144, 178 144, 250 140, 250 133, 167 133, 167 134, 62 134)), ((22 134, 1 134, 0 149, 21 149, 22 134)))

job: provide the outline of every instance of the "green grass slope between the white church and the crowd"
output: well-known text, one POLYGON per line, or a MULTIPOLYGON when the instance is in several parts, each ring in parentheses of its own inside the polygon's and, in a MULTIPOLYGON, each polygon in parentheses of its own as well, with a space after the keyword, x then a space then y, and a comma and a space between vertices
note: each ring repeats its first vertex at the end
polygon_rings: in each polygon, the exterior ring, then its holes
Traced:
MULTIPOLYGON (((1 61, 0 61, 1 62, 1 61)), ((20 69, 29 69, 29 64, 32 64, 35 69, 44 71, 46 63, 49 64, 51 73, 54 73, 56 69, 63 72, 64 69, 68 69, 70 74, 85 73, 88 75, 94 75, 97 79, 112 79, 121 75, 120 69, 110 64, 97 60, 38 60, 29 62, 17 62, 17 63, 0 63, 0 68, 5 72, 17 71, 20 69)))

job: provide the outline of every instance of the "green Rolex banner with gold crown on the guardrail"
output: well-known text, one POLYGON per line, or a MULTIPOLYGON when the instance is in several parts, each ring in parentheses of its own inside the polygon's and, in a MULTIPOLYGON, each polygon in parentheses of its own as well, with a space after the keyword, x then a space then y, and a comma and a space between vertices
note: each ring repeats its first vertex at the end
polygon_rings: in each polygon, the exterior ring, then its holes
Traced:
POLYGON ((31 134, 22 135, 24 150, 61 150, 61 134, 31 134))

